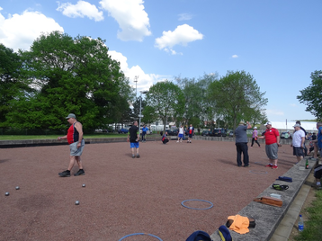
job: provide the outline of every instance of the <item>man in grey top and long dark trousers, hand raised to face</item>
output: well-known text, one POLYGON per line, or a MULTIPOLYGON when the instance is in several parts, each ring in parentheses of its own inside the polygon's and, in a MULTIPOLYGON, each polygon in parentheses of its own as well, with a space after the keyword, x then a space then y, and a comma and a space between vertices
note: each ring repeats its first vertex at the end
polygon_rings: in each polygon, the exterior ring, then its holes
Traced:
POLYGON ((237 129, 235 129, 235 137, 236 137, 236 149, 237 149, 237 166, 242 166, 241 155, 243 154, 243 162, 245 167, 249 167, 249 156, 248 156, 248 138, 246 129, 251 129, 252 126, 249 122, 240 122, 237 129))

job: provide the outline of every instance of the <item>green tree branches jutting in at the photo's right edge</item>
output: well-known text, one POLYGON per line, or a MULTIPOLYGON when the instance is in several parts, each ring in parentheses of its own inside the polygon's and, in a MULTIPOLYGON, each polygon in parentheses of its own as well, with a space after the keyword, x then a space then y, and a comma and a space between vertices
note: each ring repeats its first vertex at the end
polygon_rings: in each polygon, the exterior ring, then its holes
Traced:
POLYGON ((312 82, 309 87, 300 91, 297 96, 300 103, 307 106, 306 111, 313 114, 318 121, 322 120, 322 71, 311 73, 312 82))

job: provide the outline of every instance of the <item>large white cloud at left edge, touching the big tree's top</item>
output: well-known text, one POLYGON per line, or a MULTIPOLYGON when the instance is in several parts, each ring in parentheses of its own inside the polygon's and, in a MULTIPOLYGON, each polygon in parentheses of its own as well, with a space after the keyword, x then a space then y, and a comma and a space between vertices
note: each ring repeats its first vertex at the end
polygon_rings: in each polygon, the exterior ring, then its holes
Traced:
POLYGON ((51 31, 64 31, 64 29, 58 22, 42 13, 24 11, 21 15, 9 14, 6 19, 0 13, 0 42, 14 51, 29 50, 32 42, 41 33, 51 31))

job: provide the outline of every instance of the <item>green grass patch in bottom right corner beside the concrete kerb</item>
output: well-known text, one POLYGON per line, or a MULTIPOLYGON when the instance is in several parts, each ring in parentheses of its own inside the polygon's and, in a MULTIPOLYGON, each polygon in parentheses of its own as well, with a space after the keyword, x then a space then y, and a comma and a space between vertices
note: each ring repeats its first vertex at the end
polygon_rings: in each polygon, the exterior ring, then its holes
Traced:
POLYGON ((317 199, 306 209, 309 219, 304 223, 304 230, 300 232, 297 241, 321 240, 322 237, 322 191, 317 192, 317 199))

